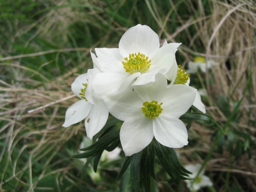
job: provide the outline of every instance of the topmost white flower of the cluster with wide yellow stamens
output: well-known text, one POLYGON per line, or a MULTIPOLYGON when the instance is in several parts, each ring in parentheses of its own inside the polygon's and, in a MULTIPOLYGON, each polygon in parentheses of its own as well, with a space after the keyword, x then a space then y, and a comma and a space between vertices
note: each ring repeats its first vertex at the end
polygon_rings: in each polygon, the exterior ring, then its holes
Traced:
POLYGON ((158 72, 168 79, 179 45, 169 43, 160 48, 158 35, 150 27, 138 24, 124 33, 119 48, 95 48, 103 72, 94 79, 95 95, 106 96, 131 88, 135 80, 136 85, 145 84, 158 72))

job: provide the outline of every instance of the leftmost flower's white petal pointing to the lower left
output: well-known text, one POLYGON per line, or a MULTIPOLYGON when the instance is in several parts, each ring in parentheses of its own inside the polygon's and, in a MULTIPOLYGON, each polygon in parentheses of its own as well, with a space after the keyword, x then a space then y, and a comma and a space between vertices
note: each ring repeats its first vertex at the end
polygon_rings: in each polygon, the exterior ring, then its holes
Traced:
POLYGON ((65 122, 63 127, 68 127, 72 124, 82 121, 89 114, 92 104, 86 100, 80 100, 68 108, 66 111, 65 122))

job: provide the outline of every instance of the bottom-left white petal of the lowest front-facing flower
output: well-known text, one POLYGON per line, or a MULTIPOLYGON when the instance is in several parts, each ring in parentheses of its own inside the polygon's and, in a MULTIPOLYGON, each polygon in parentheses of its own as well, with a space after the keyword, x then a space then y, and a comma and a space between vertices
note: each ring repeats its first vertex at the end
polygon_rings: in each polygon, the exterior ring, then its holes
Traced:
POLYGON ((146 117, 129 118, 120 130, 120 140, 126 156, 143 150, 154 137, 152 120, 146 117))

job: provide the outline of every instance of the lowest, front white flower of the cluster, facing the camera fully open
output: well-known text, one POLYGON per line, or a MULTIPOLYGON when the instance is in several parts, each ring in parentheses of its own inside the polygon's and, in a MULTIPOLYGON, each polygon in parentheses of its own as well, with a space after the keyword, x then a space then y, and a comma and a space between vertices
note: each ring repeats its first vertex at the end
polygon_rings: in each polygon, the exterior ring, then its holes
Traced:
POLYGON ((109 96, 110 113, 124 121, 120 140, 126 156, 143 150, 153 137, 164 146, 180 148, 188 144, 188 133, 179 120, 192 105, 196 89, 177 84, 167 87, 166 77, 156 74, 154 82, 134 86, 109 96))

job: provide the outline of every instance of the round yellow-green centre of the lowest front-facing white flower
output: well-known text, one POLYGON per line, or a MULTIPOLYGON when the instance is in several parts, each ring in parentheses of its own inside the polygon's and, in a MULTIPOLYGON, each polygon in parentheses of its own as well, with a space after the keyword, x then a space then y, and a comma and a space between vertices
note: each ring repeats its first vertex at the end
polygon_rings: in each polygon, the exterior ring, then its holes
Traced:
POLYGON ((158 104, 158 102, 154 100, 151 102, 145 101, 143 103, 144 107, 142 107, 141 110, 144 113, 145 117, 153 119, 155 117, 158 117, 162 113, 162 104, 163 103, 158 104))

